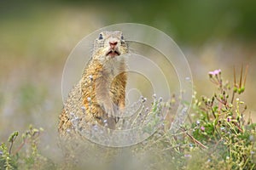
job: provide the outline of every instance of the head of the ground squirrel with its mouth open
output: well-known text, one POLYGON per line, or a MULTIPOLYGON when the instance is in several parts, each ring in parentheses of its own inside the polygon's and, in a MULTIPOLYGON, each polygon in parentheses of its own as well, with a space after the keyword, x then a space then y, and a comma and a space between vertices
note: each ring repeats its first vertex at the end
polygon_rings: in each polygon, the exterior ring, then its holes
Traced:
POLYGON ((121 31, 102 31, 94 42, 94 58, 113 59, 127 53, 128 45, 121 31))

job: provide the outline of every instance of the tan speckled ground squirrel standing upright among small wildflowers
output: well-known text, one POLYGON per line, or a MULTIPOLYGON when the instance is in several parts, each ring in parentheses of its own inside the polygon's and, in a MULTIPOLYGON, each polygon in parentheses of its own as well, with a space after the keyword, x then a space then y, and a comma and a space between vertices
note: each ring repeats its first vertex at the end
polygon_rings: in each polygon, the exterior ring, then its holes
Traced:
POLYGON ((96 120, 114 129, 117 112, 125 110, 128 45, 121 31, 103 31, 94 42, 92 57, 61 111, 59 133, 76 132, 78 122, 96 120))

